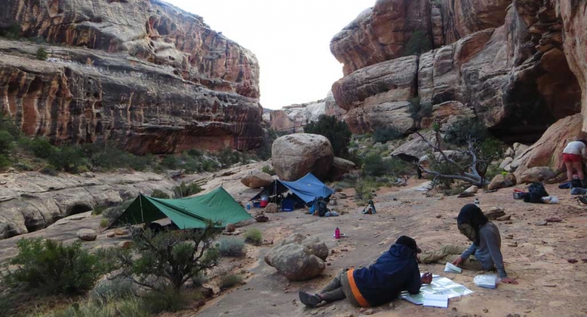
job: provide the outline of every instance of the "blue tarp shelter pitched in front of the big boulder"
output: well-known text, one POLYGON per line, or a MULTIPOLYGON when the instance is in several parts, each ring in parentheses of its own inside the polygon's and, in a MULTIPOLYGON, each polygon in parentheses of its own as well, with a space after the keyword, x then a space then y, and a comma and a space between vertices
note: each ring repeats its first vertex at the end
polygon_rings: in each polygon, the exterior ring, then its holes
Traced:
POLYGON ((261 199, 261 196, 266 194, 269 197, 283 194, 290 190, 295 196, 302 199, 306 204, 314 201, 316 197, 328 198, 331 194, 334 194, 334 190, 324 185, 316 176, 312 173, 307 173, 306 176, 295 180, 293 182, 285 182, 284 180, 274 180, 271 185, 261 190, 257 196, 253 197, 253 200, 261 199))

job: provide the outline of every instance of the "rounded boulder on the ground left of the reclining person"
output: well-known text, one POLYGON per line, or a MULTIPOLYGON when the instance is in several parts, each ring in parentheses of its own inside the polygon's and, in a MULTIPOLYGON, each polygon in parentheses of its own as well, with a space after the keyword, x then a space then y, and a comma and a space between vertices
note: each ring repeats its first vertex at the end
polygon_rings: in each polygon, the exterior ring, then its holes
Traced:
POLYGON ((316 277, 326 264, 328 247, 317 238, 294 234, 276 244, 265 256, 265 263, 276 268, 288 280, 309 280, 316 277))

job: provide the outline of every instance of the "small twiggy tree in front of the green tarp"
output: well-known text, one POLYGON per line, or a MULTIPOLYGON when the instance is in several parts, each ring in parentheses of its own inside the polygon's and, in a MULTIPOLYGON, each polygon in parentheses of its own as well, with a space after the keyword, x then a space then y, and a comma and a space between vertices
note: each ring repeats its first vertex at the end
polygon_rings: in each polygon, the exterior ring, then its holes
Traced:
POLYGON ((209 223, 199 230, 166 230, 157 235, 149 229, 130 228, 132 248, 118 254, 121 274, 157 292, 171 286, 175 291, 192 278, 218 265, 218 250, 213 246, 219 231, 209 223))

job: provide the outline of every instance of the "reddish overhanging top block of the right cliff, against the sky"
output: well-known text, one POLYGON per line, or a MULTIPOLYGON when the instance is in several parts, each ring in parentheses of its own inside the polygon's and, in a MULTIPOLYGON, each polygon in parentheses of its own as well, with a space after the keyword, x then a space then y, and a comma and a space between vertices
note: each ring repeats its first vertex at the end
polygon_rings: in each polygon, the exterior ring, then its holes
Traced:
POLYGON ((428 0, 378 0, 335 35, 330 51, 343 63, 343 73, 404 55, 414 32, 431 37, 428 0))

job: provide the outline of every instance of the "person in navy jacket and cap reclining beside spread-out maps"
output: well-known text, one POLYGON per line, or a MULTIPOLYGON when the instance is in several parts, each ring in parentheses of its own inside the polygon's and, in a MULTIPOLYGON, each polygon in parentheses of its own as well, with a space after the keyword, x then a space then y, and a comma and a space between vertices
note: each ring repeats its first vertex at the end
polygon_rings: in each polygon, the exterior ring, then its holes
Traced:
POLYGON ((422 283, 432 282, 431 273, 420 277, 418 252, 416 240, 402 235, 371 266, 343 270, 319 294, 299 292, 299 300, 314 307, 346 298, 354 306, 371 307, 390 302, 404 290, 418 294, 422 283))

